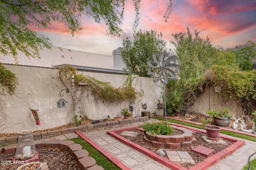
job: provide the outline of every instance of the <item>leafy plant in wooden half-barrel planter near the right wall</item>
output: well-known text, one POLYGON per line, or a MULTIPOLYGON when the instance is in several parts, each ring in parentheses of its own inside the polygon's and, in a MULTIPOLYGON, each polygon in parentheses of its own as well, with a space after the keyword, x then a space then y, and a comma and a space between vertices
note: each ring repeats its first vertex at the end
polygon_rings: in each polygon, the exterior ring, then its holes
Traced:
POLYGON ((230 113, 230 108, 219 108, 219 111, 216 112, 214 110, 207 110, 207 114, 212 115, 214 119, 215 125, 218 126, 229 126, 230 121, 231 121, 231 113, 230 113))

